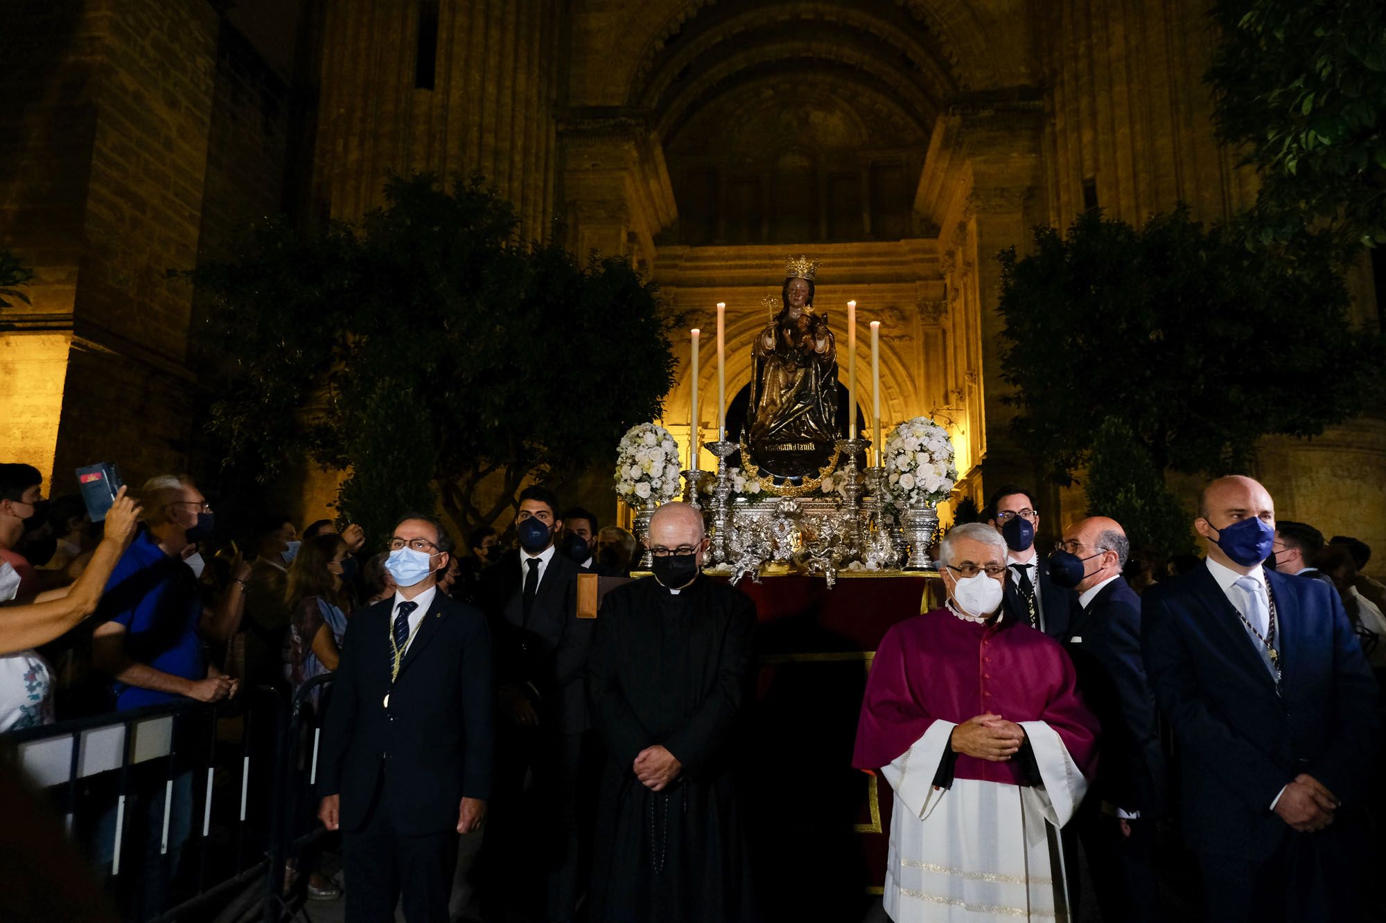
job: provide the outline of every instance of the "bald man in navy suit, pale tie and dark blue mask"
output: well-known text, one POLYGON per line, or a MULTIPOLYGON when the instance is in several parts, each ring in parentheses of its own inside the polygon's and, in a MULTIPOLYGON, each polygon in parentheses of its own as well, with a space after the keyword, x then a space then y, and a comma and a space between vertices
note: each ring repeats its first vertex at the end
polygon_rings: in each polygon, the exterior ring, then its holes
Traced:
POLYGON ((1202 567, 1142 597, 1145 662, 1181 755, 1207 919, 1356 920, 1376 683, 1337 596, 1263 567, 1270 493, 1204 488, 1202 567))

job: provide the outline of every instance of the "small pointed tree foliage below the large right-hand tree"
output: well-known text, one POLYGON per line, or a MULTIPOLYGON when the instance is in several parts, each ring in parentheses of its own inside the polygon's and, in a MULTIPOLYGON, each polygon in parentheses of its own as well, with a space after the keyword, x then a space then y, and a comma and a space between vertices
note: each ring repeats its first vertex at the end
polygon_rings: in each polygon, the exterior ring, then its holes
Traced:
POLYGON ((1164 473, 1119 416, 1107 417, 1092 435, 1088 456, 1088 516, 1121 522, 1132 547, 1155 549, 1161 557, 1193 550, 1191 514, 1164 485, 1164 473))

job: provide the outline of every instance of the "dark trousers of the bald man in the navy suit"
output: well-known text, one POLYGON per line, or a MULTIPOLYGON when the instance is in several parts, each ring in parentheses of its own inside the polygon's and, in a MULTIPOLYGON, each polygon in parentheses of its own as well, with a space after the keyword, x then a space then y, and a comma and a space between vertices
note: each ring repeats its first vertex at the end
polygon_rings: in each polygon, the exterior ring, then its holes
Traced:
MULTIPOLYGON (((1342 811, 1342 809, 1340 809, 1342 811)), ((1356 923, 1362 830, 1340 815, 1319 833, 1286 829, 1260 861, 1199 852, 1209 923, 1356 923)))

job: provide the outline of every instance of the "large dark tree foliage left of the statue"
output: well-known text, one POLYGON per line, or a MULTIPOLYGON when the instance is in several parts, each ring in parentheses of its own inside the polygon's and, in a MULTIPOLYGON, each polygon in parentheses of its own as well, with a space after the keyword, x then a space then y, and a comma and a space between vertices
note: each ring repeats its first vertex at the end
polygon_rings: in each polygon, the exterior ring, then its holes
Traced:
POLYGON ((349 473, 373 535, 401 510, 496 520, 531 477, 604 461, 674 383, 657 290, 621 259, 513 241, 480 179, 391 177, 360 226, 269 222, 182 273, 211 298, 211 428, 261 481, 310 457, 349 473))

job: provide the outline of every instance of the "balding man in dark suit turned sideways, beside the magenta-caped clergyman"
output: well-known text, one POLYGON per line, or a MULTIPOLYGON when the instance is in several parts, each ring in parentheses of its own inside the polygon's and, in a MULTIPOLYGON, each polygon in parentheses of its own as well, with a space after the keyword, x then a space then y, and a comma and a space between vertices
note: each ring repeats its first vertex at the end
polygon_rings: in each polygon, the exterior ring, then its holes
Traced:
POLYGON ((1164 754, 1141 658, 1141 597, 1121 577, 1131 542, 1116 520, 1089 517, 1070 525, 1060 546, 1056 561, 1063 557, 1069 567, 1056 567, 1053 579, 1078 593, 1063 646, 1084 701, 1102 722, 1098 776, 1071 826, 1102 919, 1159 920, 1155 823, 1164 814, 1164 754))

